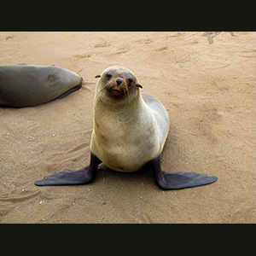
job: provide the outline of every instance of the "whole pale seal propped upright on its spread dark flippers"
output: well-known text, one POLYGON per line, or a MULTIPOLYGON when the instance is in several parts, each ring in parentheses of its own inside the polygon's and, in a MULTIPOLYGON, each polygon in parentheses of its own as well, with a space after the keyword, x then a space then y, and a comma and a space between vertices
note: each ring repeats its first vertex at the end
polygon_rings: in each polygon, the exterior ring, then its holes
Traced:
POLYGON ((166 108, 153 96, 141 94, 136 76, 124 67, 108 67, 96 86, 90 165, 37 181, 38 186, 90 183, 102 162, 119 172, 153 169, 160 189, 184 189, 217 181, 195 172, 163 172, 160 153, 169 131, 166 108))

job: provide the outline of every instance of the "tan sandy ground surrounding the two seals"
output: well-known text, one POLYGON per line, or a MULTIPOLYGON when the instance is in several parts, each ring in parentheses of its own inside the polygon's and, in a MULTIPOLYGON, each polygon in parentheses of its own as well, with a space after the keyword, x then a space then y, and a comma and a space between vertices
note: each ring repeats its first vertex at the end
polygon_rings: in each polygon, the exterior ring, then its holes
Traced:
POLYGON ((32 108, 0 108, 0 223, 255 223, 256 32, 0 32, 0 65, 79 73, 81 90, 32 108), (93 183, 34 181, 89 164, 95 75, 136 73, 171 118, 166 172, 207 172, 218 182, 162 191, 152 172, 101 166, 93 183))

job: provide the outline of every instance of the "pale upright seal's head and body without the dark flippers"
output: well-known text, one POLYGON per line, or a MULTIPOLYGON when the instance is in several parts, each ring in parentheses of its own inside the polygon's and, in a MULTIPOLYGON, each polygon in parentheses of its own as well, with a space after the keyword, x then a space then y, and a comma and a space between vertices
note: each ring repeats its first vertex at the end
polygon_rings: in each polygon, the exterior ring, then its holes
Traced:
POLYGON ((129 70, 110 67, 96 87, 90 150, 119 172, 135 172, 160 155, 169 131, 166 109, 136 84, 129 70))

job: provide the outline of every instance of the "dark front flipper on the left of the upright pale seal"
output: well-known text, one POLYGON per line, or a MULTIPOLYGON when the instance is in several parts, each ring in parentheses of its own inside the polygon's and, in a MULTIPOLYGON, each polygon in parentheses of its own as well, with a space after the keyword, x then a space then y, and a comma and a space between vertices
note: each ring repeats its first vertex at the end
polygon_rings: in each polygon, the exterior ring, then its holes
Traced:
POLYGON ((35 182, 37 186, 58 186, 58 185, 80 185, 90 183, 96 176, 96 170, 101 163, 94 154, 90 154, 90 166, 78 171, 66 170, 55 172, 55 174, 46 176, 44 179, 35 182))

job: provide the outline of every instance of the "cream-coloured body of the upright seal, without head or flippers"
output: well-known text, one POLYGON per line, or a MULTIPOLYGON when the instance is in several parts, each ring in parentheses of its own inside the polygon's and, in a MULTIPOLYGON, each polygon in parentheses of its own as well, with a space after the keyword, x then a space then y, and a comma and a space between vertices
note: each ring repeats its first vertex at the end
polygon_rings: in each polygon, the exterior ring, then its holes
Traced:
POLYGON ((114 171, 135 172, 160 155, 168 131, 168 113, 153 96, 138 90, 118 106, 96 99, 90 150, 114 171))

